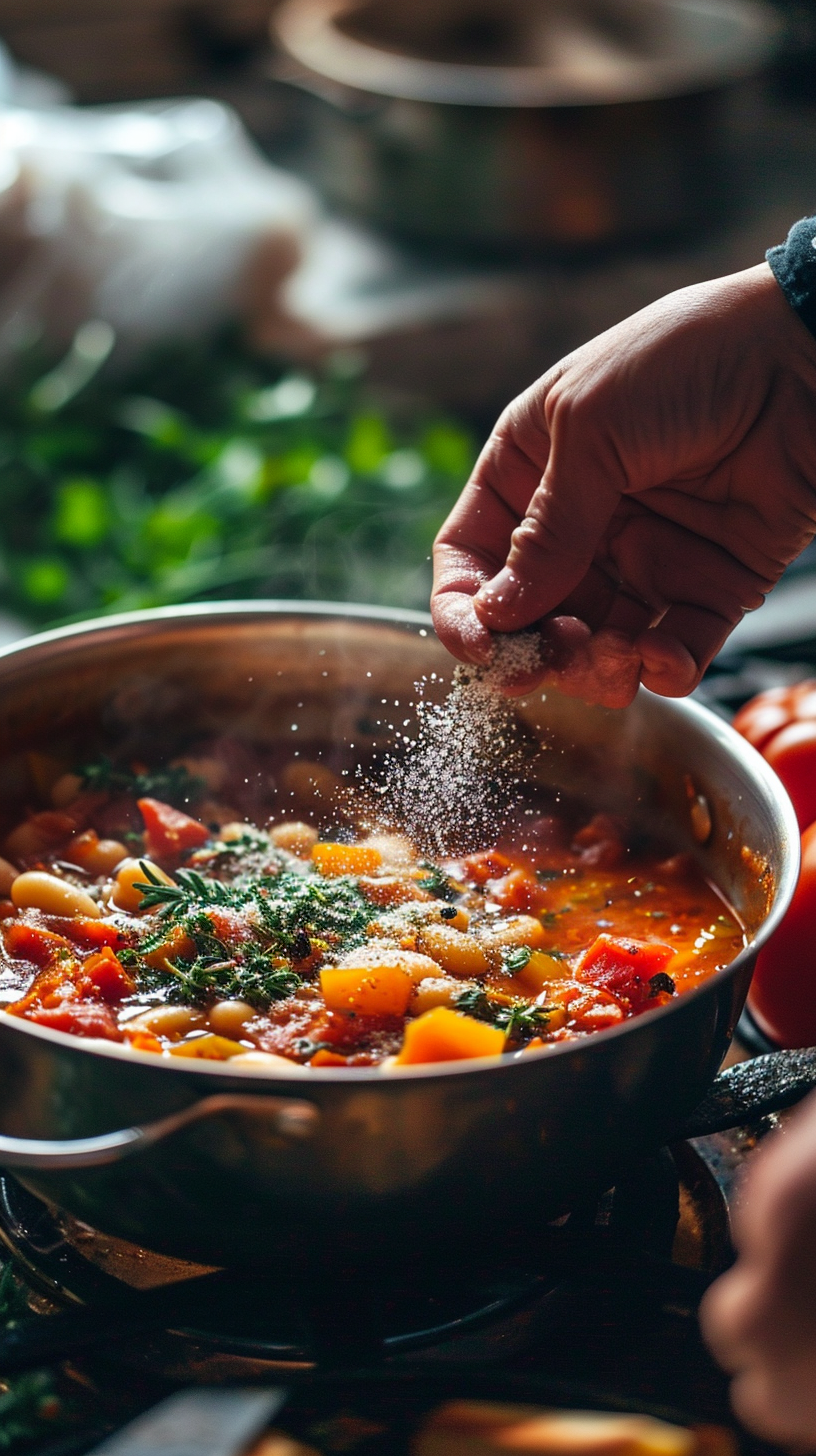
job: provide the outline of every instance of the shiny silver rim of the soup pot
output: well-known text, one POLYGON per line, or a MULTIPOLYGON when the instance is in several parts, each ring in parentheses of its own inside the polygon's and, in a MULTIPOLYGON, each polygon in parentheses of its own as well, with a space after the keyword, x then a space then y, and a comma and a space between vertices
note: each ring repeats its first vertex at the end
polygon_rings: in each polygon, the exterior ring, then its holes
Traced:
MULTIPOLYGON (((89 638, 102 639, 105 636, 117 635, 138 635, 138 629, 154 626, 170 629, 179 623, 195 622, 198 619, 214 622, 221 617, 229 623, 230 620, 235 622, 242 617, 255 617, 262 620, 264 617, 289 616, 331 617, 340 620, 351 619, 356 622, 372 623, 380 622, 388 626, 404 626, 407 629, 414 628, 417 629, 418 636, 436 636, 430 613, 402 607, 366 606, 361 603, 264 598, 256 601, 203 601, 175 607, 150 607, 141 612, 118 613, 109 617, 92 617, 87 622, 52 628, 48 632, 39 632, 34 636, 22 638, 19 642, 13 642, 1 648, 0 690, 3 686, 4 665, 7 662, 19 662, 41 648, 54 646, 57 649, 70 649, 71 645, 77 642, 87 645, 89 638)), ((118 1042, 74 1037, 70 1032, 54 1031, 50 1026, 38 1026, 23 1018, 10 1016, 1 1008, 0 1028, 12 1028, 23 1035, 35 1037, 39 1041, 51 1042, 52 1045, 63 1047, 76 1054, 85 1053, 117 1061, 124 1060, 128 1066, 133 1066, 136 1061, 136 1064, 150 1067, 156 1073, 176 1075, 185 1079, 189 1079, 191 1076, 203 1079, 226 1077, 232 1082, 239 1079, 240 1082, 246 1082, 249 1086, 255 1086, 258 1091, 280 1089, 281 1086, 286 1086, 287 1089, 297 1089, 297 1095, 303 1096, 310 1082, 338 1086, 350 1086, 358 1082, 373 1082, 385 1088, 389 1083, 399 1085, 405 1079, 433 1080, 440 1076, 471 1076, 500 1070, 510 1072, 510 1069, 516 1067, 520 1061, 523 1061, 525 1066, 532 1066, 533 1063, 548 1060, 551 1057, 576 1054, 577 1051, 586 1054, 596 1044, 606 1044, 612 1038, 632 1035, 640 1026, 650 1025, 659 1018, 679 1013, 686 1003, 697 1002, 704 996, 711 996, 714 993, 714 987, 720 986, 723 978, 733 978, 737 976, 746 961, 753 958, 774 933, 788 909, 797 885, 800 868, 800 833, 793 804, 781 780, 777 778, 769 764, 765 763, 765 759, 762 759, 756 748, 734 732, 730 724, 724 722, 717 716, 717 713, 713 713, 711 709, 704 708, 702 703, 697 703, 692 699, 659 699, 657 695, 650 693, 644 687, 638 690, 638 696, 659 700, 666 712, 676 715, 679 719, 695 721, 699 727, 705 728, 705 731, 713 735, 733 759, 736 759, 746 778, 753 779, 759 789, 764 791, 765 798, 774 807, 780 821, 778 827, 782 849, 782 866, 775 882, 774 903, 753 939, 721 971, 717 971, 694 990, 683 992, 682 996, 669 1002, 666 1006, 659 1006, 654 1010, 644 1012, 641 1016, 632 1016, 628 1021, 621 1022, 618 1026, 596 1031, 590 1037, 577 1041, 561 1041, 533 1051, 519 1051, 507 1057, 471 1057, 462 1061, 389 1067, 388 1072, 382 1072, 379 1067, 305 1067, 303 1070, 293 1073, 291 1079, 286 1076, 270 1076, 261 1069, 239 1070, 238 1067, 233 1067, 232 1061, 203 1061, 198 1064, 192 1060, 188 1061, 184 1059, 182 1064, 182 1059, 156 1057, 152 1053, 122 1047, 118 1042)))

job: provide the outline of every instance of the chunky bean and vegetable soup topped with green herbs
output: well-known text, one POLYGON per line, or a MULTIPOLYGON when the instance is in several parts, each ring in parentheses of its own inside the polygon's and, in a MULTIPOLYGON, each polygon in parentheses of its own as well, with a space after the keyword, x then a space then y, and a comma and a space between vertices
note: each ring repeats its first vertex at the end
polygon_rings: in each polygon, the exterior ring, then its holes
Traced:
POLYGON ((388 1070, 593 1035, 745 945, 689 856, 609 815, 555 807, 430 860, 332 823, 319 761, 283 766, 268 823, 238 818, 230 761, 41 766, 50 807, 0 860, 7 1015, 270 1075, 388 1070))

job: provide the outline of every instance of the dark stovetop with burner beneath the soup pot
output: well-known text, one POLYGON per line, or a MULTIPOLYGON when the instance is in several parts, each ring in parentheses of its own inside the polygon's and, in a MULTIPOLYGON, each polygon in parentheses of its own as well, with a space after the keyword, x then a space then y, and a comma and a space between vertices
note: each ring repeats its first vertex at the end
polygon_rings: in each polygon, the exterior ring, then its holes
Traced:
MULTIPOLYGON (((446 1270, 425 1268, 415 1249, 392 1280, 356 1270, 318 1286, 154 1255, 50 1208, 6 1175, 0 1239, 28 1307, 0 1334, 0 1370, 55 1372, 48 1389, 68 1418, 57 1444, 42 1428, 32 1437, 50 1456, 90 1449, 134 1411, 194 1383, 284 1383, 291 1430, 312 1421, 331 1431, 331 1411, 353 1409, 366 1456, 369 1441, 372 1453, 396 1450, 383 1436, 383 1401, 402 1411, 431 1392, 733 1425, 697 1309, 730 1262, 739 1175, 772 1123, 663 1149, 532 1239, 504 1230, 484 1267, 458 1265, 452 1248, 446 1270)), ((9 1379, 15 1389, 32 1376, 9 1379)), ((1 1389, 0 1379, 0 1417, 1 1389)))

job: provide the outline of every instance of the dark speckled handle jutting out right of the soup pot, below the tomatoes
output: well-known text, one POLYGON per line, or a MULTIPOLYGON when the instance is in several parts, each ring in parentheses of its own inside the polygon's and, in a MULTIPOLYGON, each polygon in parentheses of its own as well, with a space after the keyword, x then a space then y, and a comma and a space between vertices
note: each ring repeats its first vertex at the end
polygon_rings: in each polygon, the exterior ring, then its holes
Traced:
POLYGON ((816 1091, 816 1047, 769 1051, 721 1072, 702 1102, 679 1130, 679 1137, 708 1137, 743 1127, 768 1112, 781 1112, 816 1091))

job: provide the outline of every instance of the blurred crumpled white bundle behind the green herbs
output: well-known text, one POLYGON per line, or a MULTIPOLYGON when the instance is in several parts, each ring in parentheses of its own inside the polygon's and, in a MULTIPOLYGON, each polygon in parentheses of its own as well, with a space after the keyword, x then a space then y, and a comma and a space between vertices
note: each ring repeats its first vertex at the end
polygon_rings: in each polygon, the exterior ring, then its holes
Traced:
POLYGON ((125 349, 204 332, 280 290, 318 215, 219 102, 0 109, 0 352, 89 317, 125 349))

